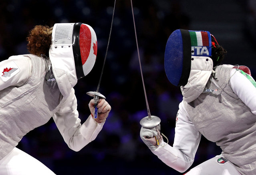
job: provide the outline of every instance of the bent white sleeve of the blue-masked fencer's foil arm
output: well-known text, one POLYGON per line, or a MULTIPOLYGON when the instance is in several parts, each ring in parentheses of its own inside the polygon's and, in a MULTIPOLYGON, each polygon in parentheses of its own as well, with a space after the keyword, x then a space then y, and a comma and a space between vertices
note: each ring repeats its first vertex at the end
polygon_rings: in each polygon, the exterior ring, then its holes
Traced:
POLYGON ((201 133, 189 120, 183 101, 179 104, 176 121, 173 147, 162 142, 160 147, 152 152, 169 167, 184 172, 194 162, 201 133))

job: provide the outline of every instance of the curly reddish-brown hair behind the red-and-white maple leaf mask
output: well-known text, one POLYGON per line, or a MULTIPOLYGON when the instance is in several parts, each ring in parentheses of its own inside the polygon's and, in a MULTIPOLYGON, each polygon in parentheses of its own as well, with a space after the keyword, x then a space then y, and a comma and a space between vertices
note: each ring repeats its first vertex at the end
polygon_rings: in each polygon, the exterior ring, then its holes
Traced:
POLYGON ((30 30, 28 37, 28 51, 30 54, 49 57, 49 49, 52 43, 52 27, 38 25, 30 30))

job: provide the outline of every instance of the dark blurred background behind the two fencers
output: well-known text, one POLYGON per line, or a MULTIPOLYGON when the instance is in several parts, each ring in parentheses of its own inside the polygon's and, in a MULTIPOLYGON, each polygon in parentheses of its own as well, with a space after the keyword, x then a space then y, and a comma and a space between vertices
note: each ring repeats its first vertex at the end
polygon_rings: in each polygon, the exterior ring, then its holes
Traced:
MULTIPOLYGON (((97 34, 93 70, 75 86, 79 118, 90 114, 88 91, 96 91, 107 48, 114 0, 2 0, 0 60, 26 54, 26 36, 35 25, 83 22, 97 34)), ((143 77, 151 115, 161 118, 161 131, 172 145, 175 116, 182 100, 179 88, 164 72, 165 44, 183 28, 208 30, 228 51, 225 64, 246 65, 256 75, 256 3, 254 0, 133 0, 143 77)), ((139 121, 147 116, 130 0, 117 0, 109 52, 99 91, 112 106, 92 143, 79 152, 69 149, 54 121, 28 133, 18 148, 57 175, 181 175, 162 163, 139 138, 139 121)), ((202 137, 194 167, 221 153, 202 137)))

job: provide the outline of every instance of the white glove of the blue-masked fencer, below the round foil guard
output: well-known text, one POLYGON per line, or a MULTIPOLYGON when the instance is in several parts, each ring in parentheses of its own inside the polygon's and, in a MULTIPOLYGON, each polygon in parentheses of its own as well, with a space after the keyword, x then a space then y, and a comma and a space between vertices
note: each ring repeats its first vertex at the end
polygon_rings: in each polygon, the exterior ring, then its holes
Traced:
POLYGON ((151 151, 157 149, 161 142, 163 141, 163 137, 161 136, 160 130, 160 124, 153 128, 141 127, 140 137, 151 151))

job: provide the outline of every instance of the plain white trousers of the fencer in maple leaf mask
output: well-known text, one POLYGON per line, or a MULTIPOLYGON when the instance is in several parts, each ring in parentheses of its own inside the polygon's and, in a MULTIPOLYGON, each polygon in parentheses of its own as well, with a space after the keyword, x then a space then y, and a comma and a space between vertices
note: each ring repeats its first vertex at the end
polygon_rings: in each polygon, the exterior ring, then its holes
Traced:
POLYGON ((55 175, 44 164, 18 148, 0 160, 0 175, 55 175))

